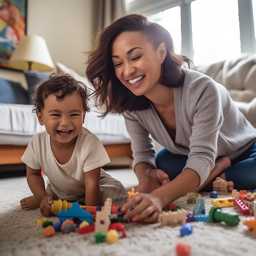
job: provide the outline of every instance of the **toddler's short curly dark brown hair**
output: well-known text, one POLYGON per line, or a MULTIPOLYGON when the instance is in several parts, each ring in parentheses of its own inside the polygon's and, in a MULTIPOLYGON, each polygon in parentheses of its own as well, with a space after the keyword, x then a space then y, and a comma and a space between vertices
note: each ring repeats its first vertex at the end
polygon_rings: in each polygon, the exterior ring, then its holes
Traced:
POLYGON ((32 100, 34 100, 33 112, 40 112, 44 108, 44 100, 49 94, 54 94, 57 100, 63 99, 67 94, 73 92, 79 92, 83 100, 83 107, 86 112, 90 111, 88 106, 89 92, 90 90, 86 85, 80 81, 77 81, 74 76, 70 74, 58 75, 52 73, 47 80, 38 83, 32 94, 32 100))

